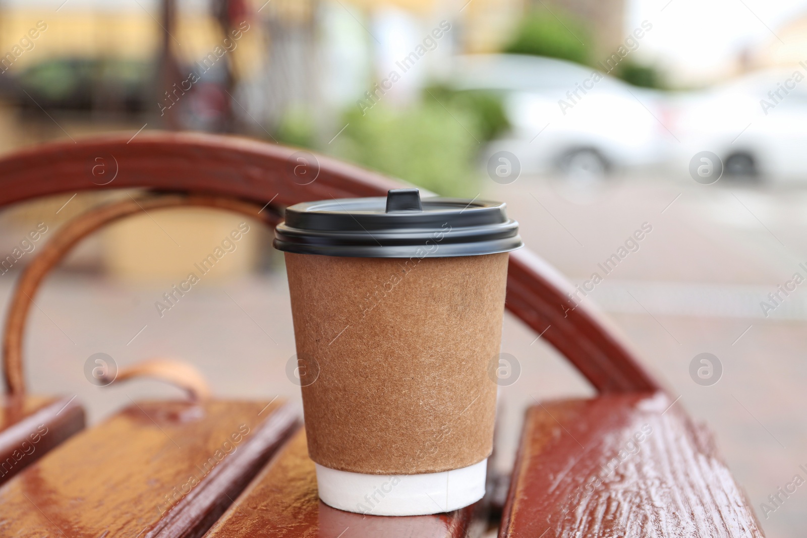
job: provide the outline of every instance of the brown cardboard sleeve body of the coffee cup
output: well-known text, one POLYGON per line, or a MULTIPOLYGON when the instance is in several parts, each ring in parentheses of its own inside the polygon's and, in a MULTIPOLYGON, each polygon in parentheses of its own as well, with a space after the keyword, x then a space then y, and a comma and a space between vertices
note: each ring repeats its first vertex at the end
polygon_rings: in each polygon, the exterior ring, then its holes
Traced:
POLYGON ((313 461, 400 475, 490 455, 508 253, 285 256, 313 461))

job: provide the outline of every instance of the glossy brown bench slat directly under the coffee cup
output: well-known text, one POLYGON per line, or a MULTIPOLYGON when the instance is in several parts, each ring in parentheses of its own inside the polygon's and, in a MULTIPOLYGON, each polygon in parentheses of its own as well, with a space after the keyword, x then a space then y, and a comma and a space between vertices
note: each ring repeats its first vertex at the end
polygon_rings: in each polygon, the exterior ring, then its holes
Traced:
POLYGON ((476 538, 483 503, 438 515, 384 517, 337 510, 320 502, 305 431, 270 461, 205 538, 476 538))

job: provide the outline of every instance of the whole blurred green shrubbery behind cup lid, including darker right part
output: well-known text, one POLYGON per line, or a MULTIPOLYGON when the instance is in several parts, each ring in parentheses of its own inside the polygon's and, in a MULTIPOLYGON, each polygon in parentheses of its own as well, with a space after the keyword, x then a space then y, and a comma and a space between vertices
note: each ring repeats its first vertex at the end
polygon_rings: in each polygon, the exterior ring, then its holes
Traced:
POLYGON ((316 123, 302 109, 283 116, 274 132, 281 144, 313 148, 444 196, 479 193, 479 150, 508 129, 502 99, 485 90, 429 86, 404 108, 379 102, 349 107, 347 124, 331 144, 317 144, 316 123))

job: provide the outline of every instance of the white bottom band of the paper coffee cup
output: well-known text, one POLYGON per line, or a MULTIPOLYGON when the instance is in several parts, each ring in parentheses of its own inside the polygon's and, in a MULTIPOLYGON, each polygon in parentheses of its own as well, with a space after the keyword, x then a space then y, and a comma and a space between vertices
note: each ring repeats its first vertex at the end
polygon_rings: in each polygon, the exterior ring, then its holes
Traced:
POLYGON ((485 494, 487 458, 462 469, 426 474, 362 474, 315 465, 322 502, 359 514, 439 514, 467 507, 485 494))

